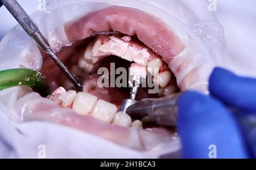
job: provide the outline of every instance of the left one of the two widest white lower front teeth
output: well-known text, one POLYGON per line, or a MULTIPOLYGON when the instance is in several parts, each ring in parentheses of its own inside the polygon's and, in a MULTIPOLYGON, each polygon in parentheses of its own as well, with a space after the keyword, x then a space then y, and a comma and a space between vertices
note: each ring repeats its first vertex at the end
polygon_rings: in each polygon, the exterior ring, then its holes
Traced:
POLYGON ((92 112, 93 106, 97 101, 97 97, 87 94, 85 92, 79 92, 73 102, 73 110, 81 115, 86 115, 92 112))

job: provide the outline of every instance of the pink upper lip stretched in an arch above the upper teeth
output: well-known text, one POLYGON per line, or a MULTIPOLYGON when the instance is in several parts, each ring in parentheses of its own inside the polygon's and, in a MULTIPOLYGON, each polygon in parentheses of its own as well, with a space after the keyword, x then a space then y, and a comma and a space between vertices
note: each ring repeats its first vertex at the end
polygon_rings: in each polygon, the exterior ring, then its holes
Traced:
POLYGON ((95 32, 119 31, 134 36, 166 63, 184 49, 179 38, 159 18, 130 7, 111 6, 92 12, 65 25, 69 41, 90 37, 95 32))

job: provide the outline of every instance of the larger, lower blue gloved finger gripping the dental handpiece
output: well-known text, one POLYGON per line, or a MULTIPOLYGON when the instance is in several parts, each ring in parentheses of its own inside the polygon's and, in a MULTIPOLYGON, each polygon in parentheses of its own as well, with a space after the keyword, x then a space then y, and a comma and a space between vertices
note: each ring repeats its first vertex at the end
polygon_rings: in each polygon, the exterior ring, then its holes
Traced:
POLYGON ((177 130, 184 158, 249 158, 236 119, 217 100, 185 92, 178 105, 177 130))

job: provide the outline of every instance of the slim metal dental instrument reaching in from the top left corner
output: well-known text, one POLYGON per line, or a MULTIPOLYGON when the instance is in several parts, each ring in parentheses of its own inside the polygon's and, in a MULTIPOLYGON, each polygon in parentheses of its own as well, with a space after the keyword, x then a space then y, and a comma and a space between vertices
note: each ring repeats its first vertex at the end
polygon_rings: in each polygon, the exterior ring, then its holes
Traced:
POLYGON ((19 5, 15 0, 0 0, 3 5, 9 10, 11 15, 18 21, 22 28, 27 32, 27 34, 35 40, 35 42, 53 59, 60 70, 68 77, 69 80, 75 85, 78 90, 82 90, 81 84, 75 78, 75 76, 69 71, 68 67, 60 61, 60 58, 53 52, 51 46, 39 31, 39 28, 33 22, 33 20, 28 16, 26 11, 19 5))

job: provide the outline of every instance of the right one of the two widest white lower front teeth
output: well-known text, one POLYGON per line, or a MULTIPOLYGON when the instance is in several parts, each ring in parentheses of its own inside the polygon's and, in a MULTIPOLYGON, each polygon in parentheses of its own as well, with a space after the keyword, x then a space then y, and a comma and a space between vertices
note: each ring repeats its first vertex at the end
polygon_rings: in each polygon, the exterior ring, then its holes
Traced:
POLYGON ((117 107, 114 104, 98 100, 93 108, 92 116, 98 120, 110 123, 113 121, 116 113, 117 107))

